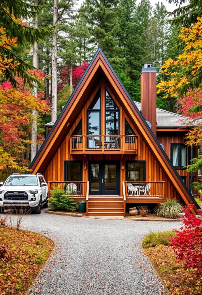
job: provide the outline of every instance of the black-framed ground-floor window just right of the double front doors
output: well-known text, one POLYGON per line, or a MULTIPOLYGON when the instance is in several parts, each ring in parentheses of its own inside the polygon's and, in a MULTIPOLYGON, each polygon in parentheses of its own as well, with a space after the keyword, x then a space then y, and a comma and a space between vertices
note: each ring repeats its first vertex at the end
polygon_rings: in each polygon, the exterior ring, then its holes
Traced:
POLYGON ((126 180, 145 181, 146 161, 126 161, 126 180))

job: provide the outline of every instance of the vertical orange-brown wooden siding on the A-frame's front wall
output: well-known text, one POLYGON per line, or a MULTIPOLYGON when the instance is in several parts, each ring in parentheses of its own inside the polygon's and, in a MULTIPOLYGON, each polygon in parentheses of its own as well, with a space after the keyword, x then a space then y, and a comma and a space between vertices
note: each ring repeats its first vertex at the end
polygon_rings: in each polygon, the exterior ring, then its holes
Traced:
MULTIPOLYGON (((163 135, 162 135, 163 136, 163 135)), ((165 145, 165 142, 168 142, 170 139, 166 139, 167 137, 163 137, 161 140, 163 141, 162 144, 165 145)), ((160 141, 161 142, 161 141, 160 141)), ((165 149, 166 153, 168 149, 165 149)), ((92 151, 93 153, 93 151, 92 151)), ((138 133, 136 126, 132 124, 130 118, 128 117, 128 112, 125 111, 124 106, 122 105, 120 99, 115 97, 112 91, 109 89, 108 85, 102 79, 96 86, 93 94, 88 99, 86 105, 83 107, 81 113, 78 115, 77 119, 73 123, 70 131, 66 135, 64 141, 60 145, 58 151, 55 153, 55 156, 50 161, 47 169, 45 170, 44 176, 46 181, 65 181, 64 179, 64 161, 65 160, 81 160, 83 161, 83 179, 81 181, 88 180, 88 160, 116 160, 120 161, 120 195, 123 195, 123 188, 122 188, 122 181, 126 180, 126 161, 134 161, 134 160, 142 160, 146 161, 146 179, 145 181, 165 181, 165 197, 176 197, 178 200, 182 201, 178 196, 178 192, 170 183, 168 178, 165 176, 165 173, 162 171, 157 159, 152 154, 152 150, 149 144, 144 142, 144 139, 138 133), (87 109, 90 105, 93 97, 95 96, 98 89, 101 87, 101 133, 105 133, 105 101, 104 101, 104 89, 105 87, 111 94, 112 98, 116 102, 117 106, 120 109, 120 134, 125 133, 125 119, 130 124, 132 129, 134 130, 135 134, 138 135, 138 154, 137 155, 71 155, 70 154, 70 135, 72 134, 73 130, 77 126, 78 122, 82 118, 82 131, 83 134, 87 134, 87 109), (85 169, 85 165, 86 168, 85 169), (122 169, 122 164, 124 164, 124 169, 122 169)))

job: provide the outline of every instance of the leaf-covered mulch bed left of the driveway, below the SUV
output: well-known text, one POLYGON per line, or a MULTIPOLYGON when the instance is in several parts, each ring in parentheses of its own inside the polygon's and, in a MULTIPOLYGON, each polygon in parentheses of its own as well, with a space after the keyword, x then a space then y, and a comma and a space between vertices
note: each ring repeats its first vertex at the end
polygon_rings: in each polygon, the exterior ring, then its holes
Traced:
POLYGON ((5 257, 0 260, 0 294, 25 294, 54 244, 46 237, 0 225, 0 243, 5 245, 5 257))

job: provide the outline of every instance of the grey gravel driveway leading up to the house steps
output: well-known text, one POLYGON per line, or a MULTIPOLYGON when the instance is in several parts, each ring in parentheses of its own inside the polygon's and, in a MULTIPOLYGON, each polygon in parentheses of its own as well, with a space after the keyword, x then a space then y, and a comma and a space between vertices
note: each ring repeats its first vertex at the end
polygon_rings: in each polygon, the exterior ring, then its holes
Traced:
POLYGON ((57 244, 30 294, 36 294, 35 289, 40 295, 165 294, 140 243, 151 230, 179 228, 180 224, 57 216, 45 209, 40 215, 30 214, 22 227, 57 244))

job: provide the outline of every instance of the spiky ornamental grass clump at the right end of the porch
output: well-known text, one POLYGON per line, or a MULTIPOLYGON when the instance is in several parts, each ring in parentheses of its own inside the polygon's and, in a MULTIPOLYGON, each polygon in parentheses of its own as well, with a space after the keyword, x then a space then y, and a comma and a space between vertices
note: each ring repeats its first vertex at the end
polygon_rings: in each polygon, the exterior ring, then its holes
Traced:
POLYGON ((165 201, 154 209, 154 213, 159 217, 179 218, 182 212, 182 205, 176 199, 165 199, 165 201))

